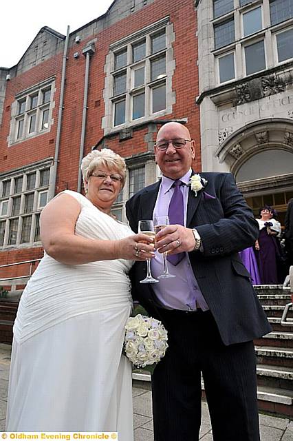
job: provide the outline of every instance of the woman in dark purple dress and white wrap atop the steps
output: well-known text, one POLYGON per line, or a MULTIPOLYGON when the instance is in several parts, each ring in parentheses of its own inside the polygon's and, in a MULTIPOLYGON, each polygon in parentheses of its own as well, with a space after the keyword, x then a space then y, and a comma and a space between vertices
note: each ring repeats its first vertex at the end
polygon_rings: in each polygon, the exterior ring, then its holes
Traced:
POLYGON ((259 275, 262 285, 277 285, 278 271, 277 260, 280 256, 279 245, 276 236, 279 234, 279 222, 271 218, 271 207, 265 206, 260 210, 259 223, 259 275))

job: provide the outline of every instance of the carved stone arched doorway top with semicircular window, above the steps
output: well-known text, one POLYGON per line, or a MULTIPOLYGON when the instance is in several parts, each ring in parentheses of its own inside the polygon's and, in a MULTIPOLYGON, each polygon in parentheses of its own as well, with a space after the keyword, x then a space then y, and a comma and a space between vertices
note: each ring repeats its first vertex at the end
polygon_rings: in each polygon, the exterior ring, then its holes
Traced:
POLYGON ((235 175, 237 185, 257 216, 259 207, 272 205, 283 225, 293 197, 293 121, 255 121, 231 134, 217 150, 235 175))

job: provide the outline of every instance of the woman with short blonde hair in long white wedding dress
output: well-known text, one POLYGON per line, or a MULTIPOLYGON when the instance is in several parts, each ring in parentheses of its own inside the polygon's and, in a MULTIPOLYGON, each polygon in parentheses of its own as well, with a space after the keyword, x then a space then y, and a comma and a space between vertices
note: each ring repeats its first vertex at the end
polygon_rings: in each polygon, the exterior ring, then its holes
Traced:
POLYGON ((121 156, 94 150, 81 169, 86 196, 65 190, 41 214, 45 255, 14 323, 6 431, 118 431, 131 441, 128 272, 153 257, 152 239, 111 216, 121 156))

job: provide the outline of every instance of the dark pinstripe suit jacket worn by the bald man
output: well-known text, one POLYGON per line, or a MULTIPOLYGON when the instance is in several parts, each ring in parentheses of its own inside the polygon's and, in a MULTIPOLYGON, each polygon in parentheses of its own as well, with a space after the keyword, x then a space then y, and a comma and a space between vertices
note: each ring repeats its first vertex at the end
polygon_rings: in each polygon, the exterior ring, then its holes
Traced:
MULTIPOLYGON (((249 341, 272 330, 250 283, 250 274, 238 252, 254 245, 259 226, 230 173, 201 173, 208 183, 200 192, 189 189, 186 227, 202 238, 203 252, 190 252, 197 283, 217 322, 225 345, 249 341)), ((127 218, 133 232, 138 220, 152 219, 160 182, 149 185, 127 202, 127 218)), ((159 316, 151 284, 142 285, 146 263, 131 269, 133 298, 159 316)))

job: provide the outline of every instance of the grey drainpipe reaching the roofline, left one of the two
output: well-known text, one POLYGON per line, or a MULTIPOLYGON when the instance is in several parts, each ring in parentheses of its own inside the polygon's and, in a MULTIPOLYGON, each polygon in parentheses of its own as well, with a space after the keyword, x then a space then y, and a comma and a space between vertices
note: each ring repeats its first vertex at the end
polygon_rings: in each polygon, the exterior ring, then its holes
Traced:
POLYGON ((63 115, 65 72, 66 72, 68 43, 69 43, 69 26, 67 26, 67 34, 66 34, 64 52, 63 52, 63 65, 62 65, 62 74, 61 74, 61 92, 60 92, 59 110, 58 110, 58 123, 57 123, 54 163, 53 163, 53 167, 52 167, 52 175, 51 175, 52 178, 50 179, 49 201, 50 201, 50 199, 52 199, 55 196, 55 188, 56 188, 57 165, 58 165, 60 137, 61 137, 61 125, 62 125, 62 115, 63 115))

